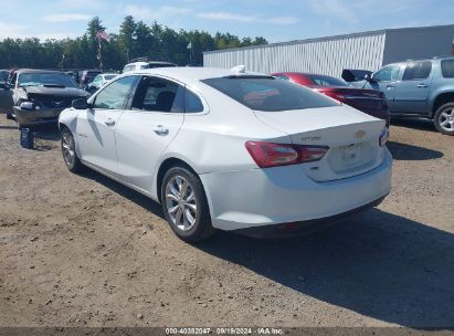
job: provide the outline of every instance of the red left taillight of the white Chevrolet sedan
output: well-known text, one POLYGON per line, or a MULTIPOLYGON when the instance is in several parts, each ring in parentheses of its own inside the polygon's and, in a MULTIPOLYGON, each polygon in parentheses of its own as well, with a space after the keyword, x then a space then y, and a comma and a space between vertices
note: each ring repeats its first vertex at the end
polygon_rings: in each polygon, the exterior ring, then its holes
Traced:
POLYGON ((265 141, 247 141, 245 146, 261 168, 317 161, 329 149, 326 146, 283 145, 265 141))

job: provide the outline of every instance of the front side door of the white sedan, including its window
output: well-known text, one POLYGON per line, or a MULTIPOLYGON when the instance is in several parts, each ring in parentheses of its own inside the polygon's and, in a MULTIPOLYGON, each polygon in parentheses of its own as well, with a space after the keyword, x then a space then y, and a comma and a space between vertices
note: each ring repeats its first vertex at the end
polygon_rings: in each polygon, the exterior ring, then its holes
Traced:
POLYGON ((137 76, 122 77, 89 99, 91 107, 77 116, 81 159, 109 174, 117 172, 115 128, 129 99, 137 76))

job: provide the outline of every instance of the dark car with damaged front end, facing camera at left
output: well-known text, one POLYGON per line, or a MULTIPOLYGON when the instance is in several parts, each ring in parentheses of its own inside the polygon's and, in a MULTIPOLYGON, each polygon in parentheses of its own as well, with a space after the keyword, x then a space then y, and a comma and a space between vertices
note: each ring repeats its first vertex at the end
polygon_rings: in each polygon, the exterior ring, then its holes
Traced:
POLYGON ((28 69, 18 70, 3 93, 9 99, 2 99, 0 108, 7 111, 7 117, 14 118, 20 128, 55 123, 73 99, 87 96, 63 72, 28 69))

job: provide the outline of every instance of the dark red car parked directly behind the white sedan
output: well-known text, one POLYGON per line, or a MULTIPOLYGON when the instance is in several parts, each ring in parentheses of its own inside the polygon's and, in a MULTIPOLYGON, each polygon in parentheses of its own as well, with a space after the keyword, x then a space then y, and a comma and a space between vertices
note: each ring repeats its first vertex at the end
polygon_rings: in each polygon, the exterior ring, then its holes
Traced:
POLYGON ((271 75, 318 91, 363 113, 386 120, 387 127, 389 127, 390 115, 387 98, 380 91, 350 87, 341 80, 325 75, 299 72, 282 72, 271 75))

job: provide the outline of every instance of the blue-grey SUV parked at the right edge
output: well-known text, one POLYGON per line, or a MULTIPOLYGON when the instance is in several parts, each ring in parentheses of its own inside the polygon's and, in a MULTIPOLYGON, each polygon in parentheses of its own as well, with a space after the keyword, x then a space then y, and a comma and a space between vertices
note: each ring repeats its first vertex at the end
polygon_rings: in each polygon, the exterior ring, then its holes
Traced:
POLYGON ((344 71, 342 77, 383 92, 392 117, 433 119, 439 132, 454 135, 454 57, 392 63, 360 82, 355 81, 355 71, 344 71))

